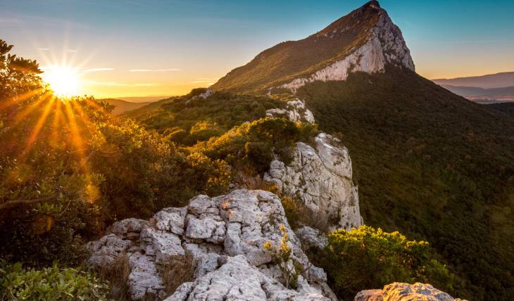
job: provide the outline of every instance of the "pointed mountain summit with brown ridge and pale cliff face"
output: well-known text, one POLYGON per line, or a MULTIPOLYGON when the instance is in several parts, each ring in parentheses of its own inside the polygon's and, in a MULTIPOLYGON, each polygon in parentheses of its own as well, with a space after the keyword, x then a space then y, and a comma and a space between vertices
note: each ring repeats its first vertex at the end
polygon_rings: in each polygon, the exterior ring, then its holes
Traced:
POLYGON ((370 1, 324 30, 259 53, 211 86, 215 90, 296 91, 308 82, 346 80, 351 72, 383 72, 386 65, 415 70, 401 30, 370 1))

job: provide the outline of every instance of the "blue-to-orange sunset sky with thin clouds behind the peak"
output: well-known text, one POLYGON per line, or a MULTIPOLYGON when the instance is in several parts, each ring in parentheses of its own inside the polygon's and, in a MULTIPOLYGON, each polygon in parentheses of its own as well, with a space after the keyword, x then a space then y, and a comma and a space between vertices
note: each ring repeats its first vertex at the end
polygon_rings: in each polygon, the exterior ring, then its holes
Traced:
MULTIPOLYGON (((303 39, 363 0, 0 0, 0 39, 80 94, 171 96, 208 87, 281 41, 303 39)), ((429 79, 514 71, 514 1, 382 0, 429 79)))

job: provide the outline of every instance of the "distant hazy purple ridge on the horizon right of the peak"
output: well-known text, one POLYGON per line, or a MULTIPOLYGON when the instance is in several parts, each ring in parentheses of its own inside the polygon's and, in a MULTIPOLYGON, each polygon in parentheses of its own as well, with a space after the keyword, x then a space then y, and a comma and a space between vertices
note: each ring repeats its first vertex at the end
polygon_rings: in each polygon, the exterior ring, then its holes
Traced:
POLYGON ((514 86, 514 72, 500 72, 494 75, 480 75, 473 77, 456 77, 452 79, 432 79, 436 84, 449 84, 451 86, 479 87, 484 89, 514 86))

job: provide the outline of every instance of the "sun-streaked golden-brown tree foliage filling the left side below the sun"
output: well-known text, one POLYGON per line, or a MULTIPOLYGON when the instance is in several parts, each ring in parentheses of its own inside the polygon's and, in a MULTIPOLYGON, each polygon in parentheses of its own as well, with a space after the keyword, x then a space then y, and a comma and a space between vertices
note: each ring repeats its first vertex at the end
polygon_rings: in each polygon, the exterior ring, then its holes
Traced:
POLYGON ((0 42, 1 257, 77 264, 80 245, 117 219, 226 191, 225 162, 180 151, 92 97, 56 97, 11 49, 0 42))

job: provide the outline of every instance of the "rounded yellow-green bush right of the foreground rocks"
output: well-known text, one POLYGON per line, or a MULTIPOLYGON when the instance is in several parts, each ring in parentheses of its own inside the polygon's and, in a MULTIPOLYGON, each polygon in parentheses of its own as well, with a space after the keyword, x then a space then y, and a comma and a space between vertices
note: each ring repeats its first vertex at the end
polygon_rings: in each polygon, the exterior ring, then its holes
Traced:
POLYGON ((397 231, 388 233, 371 226, 334 231, 321 261, 332 289, 344 300, 360 290, 382 288, 395 281, 420 281, 452 290, 453 276, 432 258, 429 244, 408 241, 397 231))

